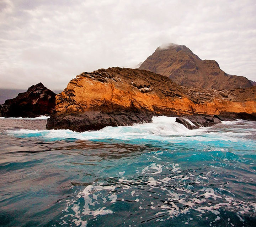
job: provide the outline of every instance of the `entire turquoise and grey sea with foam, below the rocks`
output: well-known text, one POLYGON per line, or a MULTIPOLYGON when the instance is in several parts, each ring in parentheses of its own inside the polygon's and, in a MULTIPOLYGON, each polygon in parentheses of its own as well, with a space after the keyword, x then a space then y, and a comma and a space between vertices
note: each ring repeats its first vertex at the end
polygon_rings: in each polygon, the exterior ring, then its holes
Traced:
POLYGON ((46 121, 0 118, 0 226, 256 226, 256 122, 46 121))

